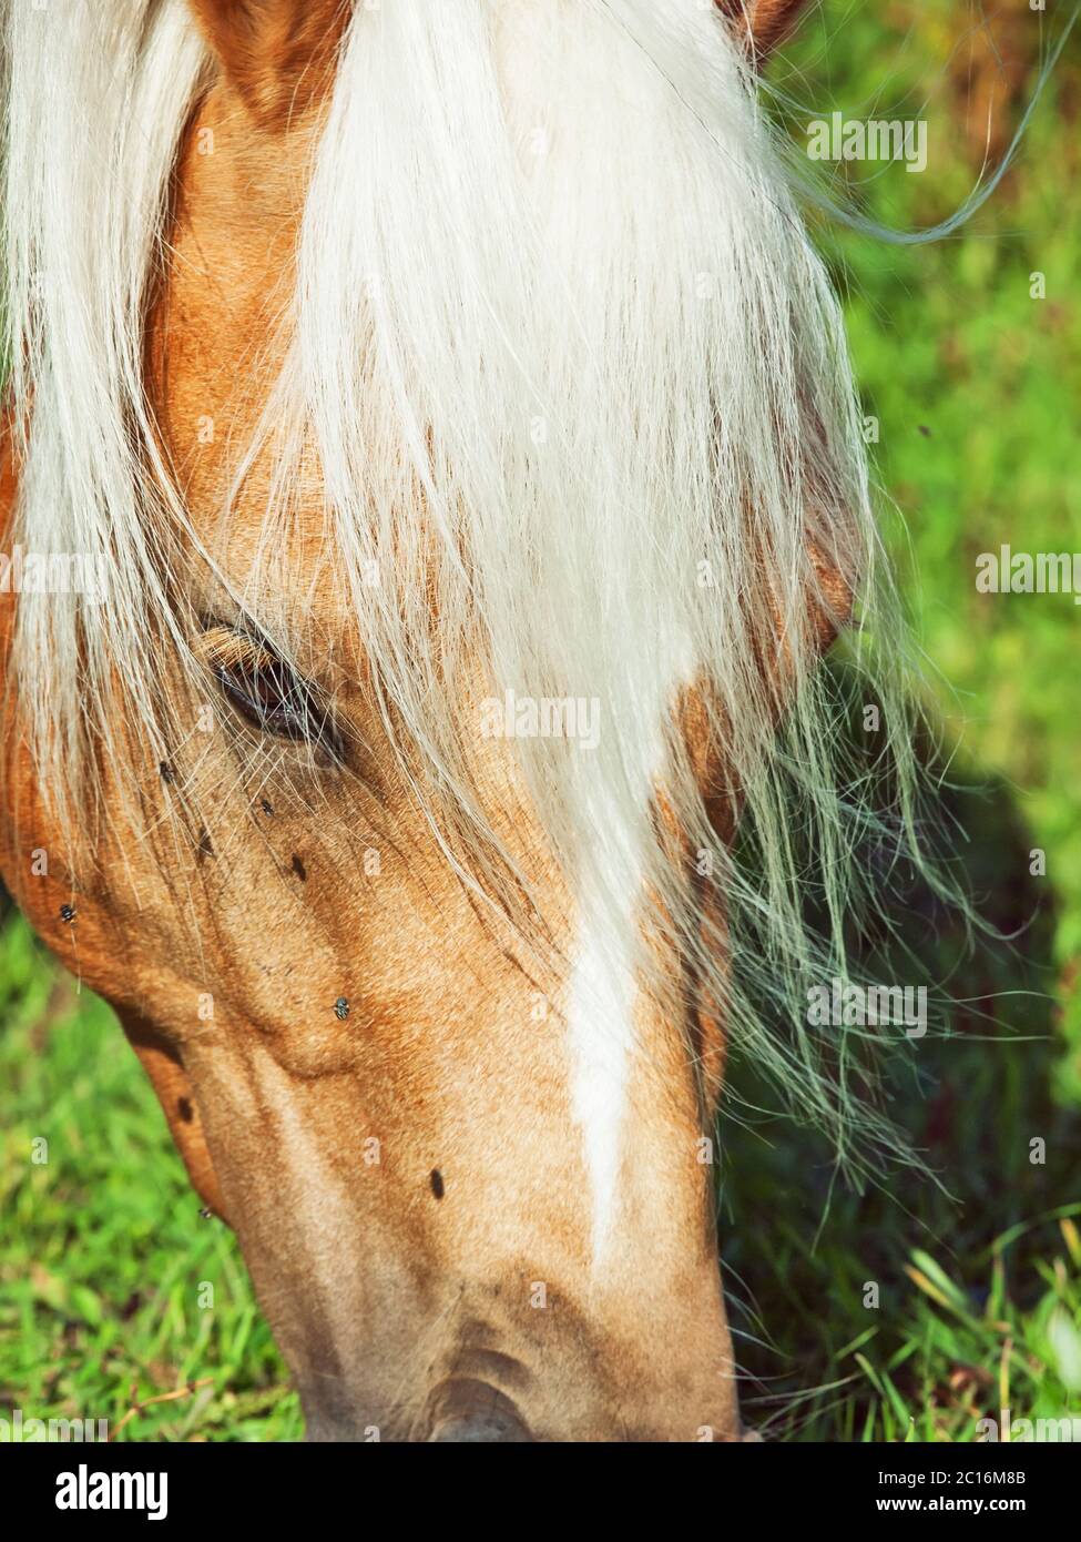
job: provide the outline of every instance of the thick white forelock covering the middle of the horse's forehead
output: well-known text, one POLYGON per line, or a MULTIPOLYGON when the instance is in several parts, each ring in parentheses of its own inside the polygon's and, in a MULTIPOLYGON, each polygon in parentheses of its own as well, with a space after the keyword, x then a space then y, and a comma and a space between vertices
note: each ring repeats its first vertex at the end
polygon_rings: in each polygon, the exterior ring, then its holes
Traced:
MULTIPOLYGON (((372 655, 395 652, 402 592, 427 606, 433 529, 439 648, 472 643, 480 609, 500 683, 600 695, 600 780, 628 811, 688 671, 743 702, 723 674, 748 669, 731 595, 762 584, 751 526, 794 621, 834 515, 808 486, 865 501, 833 299, 740 54, 695 0, 358 14, 296 327, 341 549, 355 574, 390 554, 407 574, 364 595, 372 655), (816 410, 848 415, 820 475, 816 410), (402 520, 418 489, 424 530, 402 520)), ((432 660, 390 674, 410 737, 449 752, 432 660)), ((595 768, 567 759, 560 782, 592 800, 595 768)))

